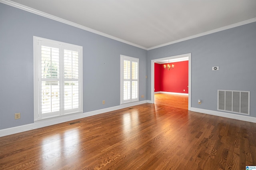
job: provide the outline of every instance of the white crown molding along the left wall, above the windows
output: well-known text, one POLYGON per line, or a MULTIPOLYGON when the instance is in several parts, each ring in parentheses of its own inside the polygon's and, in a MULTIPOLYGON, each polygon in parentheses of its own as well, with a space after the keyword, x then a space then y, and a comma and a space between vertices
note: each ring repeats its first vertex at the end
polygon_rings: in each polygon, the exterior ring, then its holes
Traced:
POLYGON ((70 25, 70 26, 74 26, 76 28, 80 28, 82 30, 86 30, 88 32, 92 32, 94 34, 98 34, 100 36, 104 36, 104 37, 107 37, 107 38, 110 38, 112 40, 116 40, 116 41, 119 41, 119 42, 122 42, 122 43, 126 43, 126 44, 129 44, 129 45, 132 45, 132 46, 135 46, 135 47, 139 47, 139 48, 142 48, 142 49, 145 49, 145 50, 148 50, 148 48, 146 47, 143 47, 141 45, 137 45, 135 43, 131 43, 131 42, 128 42, 128 41, 125 41, 125 40, 122 40, 120 38, 117 38, 117 37, 114 37, 114 36, 110 36, 108 34, 105 34, 105 33, 102 33, 102 32, 99 32, 97 30, 93 30, 91 28, 88 28, 88 27, 85 27, 85 26, 82 26, 82 25, 79 25, 79 24, 76 24, 74 22, 70 22, 68 20, 64 20, 62 18, 59 18, 59 17, 56 17, 56 16, 53 16, 53 15, 50 15, 50 14, 47 14, 45 12, 42 12, 42 11, 39 11, 39 10, 35 10, 33 8, 30 8, 28 6, 24 6, 22 4, 18 4, 16 2, 12 2, 10 0, 0 0, 1 3, 3 4, 6 4, 6 5, 9 5, 9 6, 13 6, 15 8, 19 8, 21 10, 24 10, 24 11, 27 11, 27 12, 31 12, 33 14, 37 14, 37 15, 40 15, 40 16, 43 16, 45 18, 49 18, 49 19, 52 19, 52 20, 55 20, 55 21, 58 21, 58 22, 62 22, 64 24, 67 24, 67 25, 70 25))

